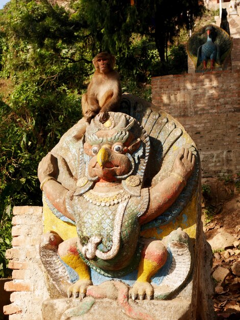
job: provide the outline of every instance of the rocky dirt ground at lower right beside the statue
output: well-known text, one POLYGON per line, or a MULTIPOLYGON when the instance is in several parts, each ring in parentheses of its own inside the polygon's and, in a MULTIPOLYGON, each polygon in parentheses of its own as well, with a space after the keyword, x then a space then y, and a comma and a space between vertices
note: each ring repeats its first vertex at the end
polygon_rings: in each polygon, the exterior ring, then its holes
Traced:
POLYGON ((240 177, 203 179, 203 225, 213 252, 214 309, 240 319, 240 177))

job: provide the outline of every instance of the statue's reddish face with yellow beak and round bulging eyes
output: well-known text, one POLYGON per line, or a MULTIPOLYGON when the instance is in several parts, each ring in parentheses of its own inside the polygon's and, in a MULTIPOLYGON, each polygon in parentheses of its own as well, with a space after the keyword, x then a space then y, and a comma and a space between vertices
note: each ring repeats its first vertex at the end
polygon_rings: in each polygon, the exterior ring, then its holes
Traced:
POLYGON ((84 152, 92 156, 88 165, 88 174, 92 178, 98 176, 111 182, 131 170, 132 164, 126 155, 128 148, 121 142, 93 146, 85 143, 84 152))

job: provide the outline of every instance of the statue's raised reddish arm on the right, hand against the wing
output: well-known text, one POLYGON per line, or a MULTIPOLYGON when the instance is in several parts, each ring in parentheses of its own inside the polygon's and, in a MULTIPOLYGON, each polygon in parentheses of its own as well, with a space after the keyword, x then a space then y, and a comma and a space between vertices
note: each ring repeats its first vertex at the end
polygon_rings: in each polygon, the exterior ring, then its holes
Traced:
POLYGON ((153 220, 170 208, 185 187, 194 166, 195 155, 188 149, 182 148, 175 159, 170 176, 150 190, 149 209, 139 218, 140 224, 153 220))

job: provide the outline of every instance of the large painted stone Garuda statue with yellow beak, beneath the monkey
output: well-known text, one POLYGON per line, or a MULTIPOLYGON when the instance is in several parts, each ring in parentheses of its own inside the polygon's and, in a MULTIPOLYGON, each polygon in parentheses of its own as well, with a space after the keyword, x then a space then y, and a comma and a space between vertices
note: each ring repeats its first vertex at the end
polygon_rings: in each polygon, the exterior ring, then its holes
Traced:
POLYGON ((170 299, 189 282, 200 164, 170 115, 131 95, 121 109, 80 120, 40 162, 40 257, 55 296, 91 297, 84 312, 118 299, 132 317, 128 297, 170 299))

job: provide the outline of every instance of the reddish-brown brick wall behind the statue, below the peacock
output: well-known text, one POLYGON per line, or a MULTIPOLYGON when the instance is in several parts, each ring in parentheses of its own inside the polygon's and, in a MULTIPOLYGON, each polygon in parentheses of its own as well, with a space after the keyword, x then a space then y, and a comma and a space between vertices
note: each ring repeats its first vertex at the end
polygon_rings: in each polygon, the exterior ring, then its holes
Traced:
POLYGON ((197 144, 202 176, 240 172, 240 70, 152 78, 152 102, 197 144))

